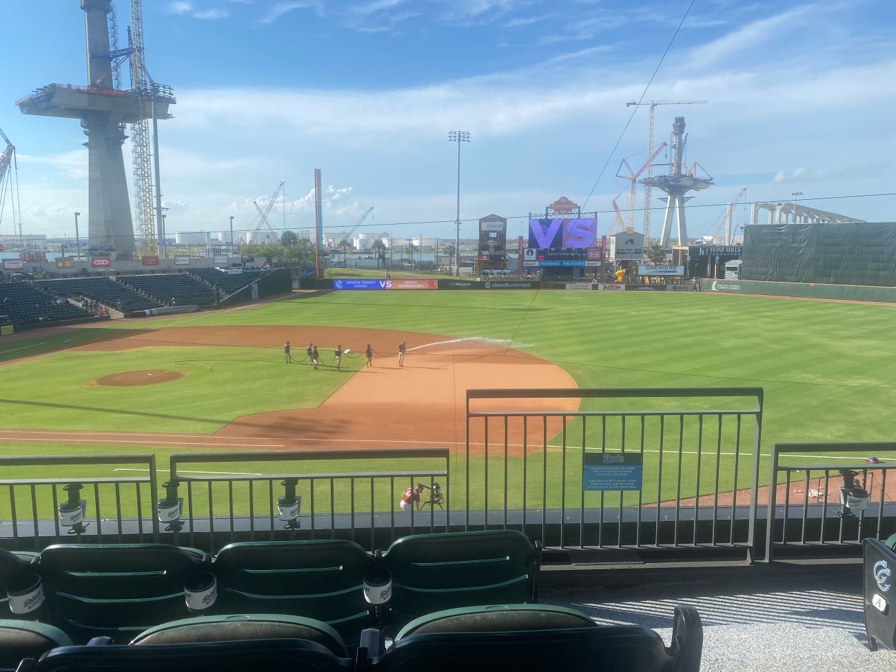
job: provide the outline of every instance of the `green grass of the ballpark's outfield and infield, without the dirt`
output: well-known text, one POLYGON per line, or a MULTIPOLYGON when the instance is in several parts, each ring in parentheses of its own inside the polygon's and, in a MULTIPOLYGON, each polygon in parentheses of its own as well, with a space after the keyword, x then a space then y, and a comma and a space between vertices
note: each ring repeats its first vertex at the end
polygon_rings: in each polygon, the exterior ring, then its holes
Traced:
MULTIPOLYGON (((289 367, 280 365, 279 349, 251 349, 252 361, 221 362, 231 376, 227 386, 206 389, 202 375, 196 373, 176 382, 189 386, 177 394, 160 393, 176 389, 168 384, 156 389, 144 387, 134 397, 136 401, 127 401, 124 395, 115 393, 116 388, 105 388, 100 392, 112 392, 87 404, 88 395, 94 391, 85 392, 86 380, 114 373, 116 369, 177 368, 175 362, 183 359, 185 353, 168 348, 122 352, 65 348, 95 339, 99 334, 115 338, 132 329, 181 324, 290 324, 297 325, 299 334, 303 324, 344 325, 497 340, 564 367, 580 387, 761 386, 765 390, 763 452, 769 452, 771 444, 781 442, 894 438, 893 306, 660 292, 345 291, 297 295, 254 308, 177 315, 151 322, 116 321, 64 334, 44 335, 36 331, 27 339, 8 343, 0 340, 0 361, 23 353, 62 350, 0 368, 0 426, 63 425, 122 431, 140 426, 149 427, 148 431, 211 432, 238 415, 320 403, 335 389, 331 383, 320 383, 313 389, 297 386, 293 383, 295 378, 289 377, 289 367), (65 340, 72 342, 65 344, 65 340), (287 377, 270 382, 271 372, 287 377), (284 401, 280 391, 290 384, 289 389, 296 389, 295 396, 284 401), (85 411, 85 405, 92 410, 85 411)), ((190 350, 194 353, 192 358, 196 358, 198 349, 190 350)), ((213 355, 227 359, 228 352, 217 350, 234 349, 215 350, 202 353, 202 358, 213 355)), ((302 380, 306 380, 305 375, 302 380)), ((499 381, 495 383, 500 385, 499 381)), ((625 406, 636 408, 635 402, 625 406)), ((601 408, 606 407, 604 404, 601 408)), ((586 401, 582 408, 598 408, 598 404, 586 401)), ((576 435, 574 427, 570 432, 571 436, 576 435)), ((597 441, 597 432, 597 427, 590 426, 589 445, 597 441)), ((655 443, 656 436, 650 439, 655 443)), ((556 437, 550 443, 555 444, 556 437)), ((57 444, 4 445, 7 454, 67 450, 70 448, 57 444)), ((145 450, 134 446, 97 446, 92 452, 145 450)), ((160 460, 166 459, 164 450, 157 452, 160 460)), ((547 482, 553 498, 558 496, 554 493, 562 482, 557 460, 556 453, 548 453, 547 482)), ((569 484, 573 483, 579 460, 567 463, 569 484)), ((493 475, 501 473, 500 462, 489 462, 493 475)), ((520 476, 518 462, 512 459, 510 463, 508 479, 512 484, 520 476)), ((484 495, 478 478, 483 464, 483 458, 470 464, 471 472, 477 476, 471 484, 477 499, 484 495)), ((530 458, 530 466, 533 464, 540 465, 540 459, 530 458)), ((463 466, 461 461, 452 463, 453 485, 461 483, 463 466)), ((693 494, 696 461, 683 460, 681 466, 682 492, 687 494, 690 490, 693 494)), ((677 465, 667 461, 666 467, 676 469, 677 465)), ((223 466, 220 469, 228 470, 223 466)), ((713 485, 714 457, 701 469, 700 490, 706 492, 713 485), (706 474, 711 474, 709 483, 706 474)), ((743 463, 740 469, 744 469, 743 463)), ((235 465, 233 470, 244 469, 235 465)), ((733 482, 733 468, 728 463, 720 472, 723 483, 733 482)), ((527 496, 540 499, 540 472, 530 471, 530 476, 537 477, 539 489, 527 496)), ((503 476, 498 480, 503 481, 503 476)), ((652 491, 647 487, 648 480, 645 478, 645 501, 657 496, 655 486, 652 491)), ((738 483, 746 487, 745 480, 738 479, 738 483)), ((493 492, 494 487, 493 476, 489 496, 500 496, 499 491, 493 492)), ((670 494, 667 487, 670 485, 664 476, 660 494, 664 499, 670 494)), ((512 500, 521 499, 521 487, 515 489, 512 500)))

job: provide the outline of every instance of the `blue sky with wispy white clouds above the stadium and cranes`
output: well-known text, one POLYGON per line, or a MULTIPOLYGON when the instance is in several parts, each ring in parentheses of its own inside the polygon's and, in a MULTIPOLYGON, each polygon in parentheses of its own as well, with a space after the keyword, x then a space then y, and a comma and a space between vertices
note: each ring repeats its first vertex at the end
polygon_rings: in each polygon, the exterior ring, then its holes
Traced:
MULTIPOLYGON (((115 4, 125 36, 130 4, 115 4)), ((230 216, 254 228, 253 202, 280 181, 285 207, 274 204, 271 223, 313 227, 321 168, 328 236, 373 207, 360 231, 453 237, 451 130, 472 136, 462 236, 490 213, 522 234, 528 213, 559 196, 599 211, 599 232, 611 233, 617 194, 624 217, 628 207, 620 161, 647 159, 648 108, 625 105, 642 95, 709 101, 656 108, 655 143, 685 116, 686 160, 714 179, 688 203, 692 237, 712 233, 742 188, 746 202, 799 191, 813 207, 896 220, 896 196, 833 198, 896 191, 896 4, 694 0, 644 93, 690 4, 145 0, 147 66, 177 96, 174 118, 159 122, 168 233, 228 228, 230 216)), ((86 83, 83 13, 77 0, 4 0, 4 25, 0 129, 17 148, 23 231, 73 235, 73 211, 87 211, 81 128, 22 116, 13 101, 86 83)), ((641 187, 636 198, 643 208, 641 187)), ((739 206, 736 223, 747 216, 739 206)), ((7 209, 0 234, 11 230, 7 209)))

